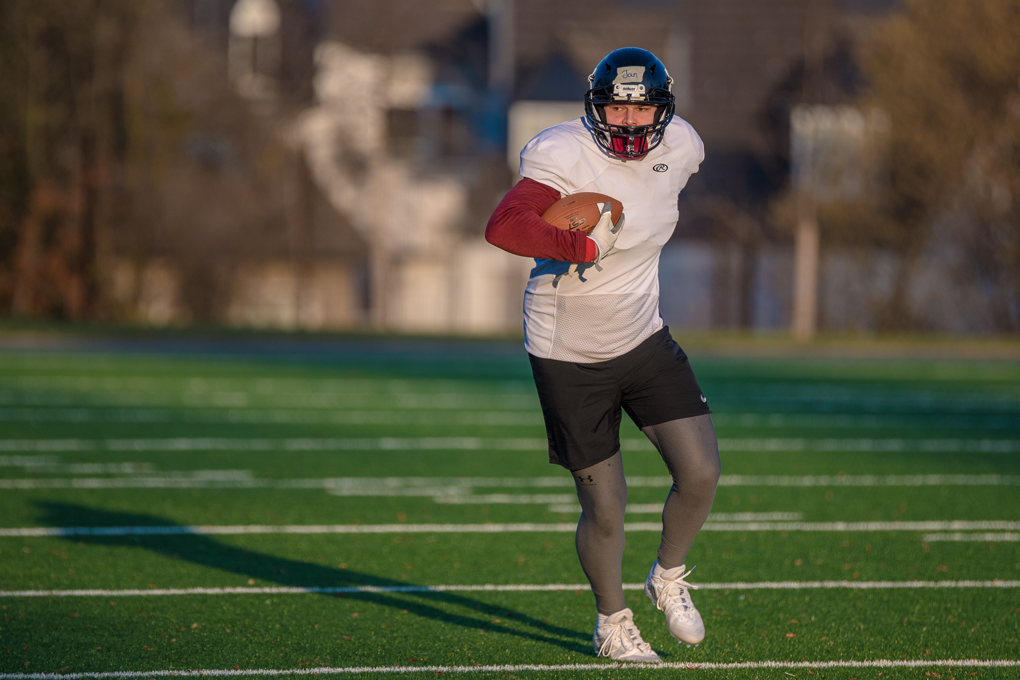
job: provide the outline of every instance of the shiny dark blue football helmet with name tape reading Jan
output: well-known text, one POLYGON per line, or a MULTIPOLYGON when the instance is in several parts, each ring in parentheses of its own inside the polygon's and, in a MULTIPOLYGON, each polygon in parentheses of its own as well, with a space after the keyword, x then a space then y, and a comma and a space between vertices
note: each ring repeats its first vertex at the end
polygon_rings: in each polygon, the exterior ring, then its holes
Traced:
POLYGON ((673 119, 676 98, 673 79, 657 56, 640 47, 613 50, 588 76, 584 114, 599 145, 618 158, 643 158, 662 143, 673 119), (619 126, 606 122, 609 104, 651 104, 656 107, 650 125, 619 126))

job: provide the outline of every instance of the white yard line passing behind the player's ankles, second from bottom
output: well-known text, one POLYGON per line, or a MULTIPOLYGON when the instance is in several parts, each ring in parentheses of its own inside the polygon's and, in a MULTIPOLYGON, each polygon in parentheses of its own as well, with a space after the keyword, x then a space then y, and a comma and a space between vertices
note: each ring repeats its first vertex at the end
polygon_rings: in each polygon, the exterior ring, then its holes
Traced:
MULTIPOLYGON (((701 590, 818 590, 857 589, 886 590, 891 588, 1018 588, 1020 580, 991 581, 734 581, 732 583, 698 583, 701 590)), ((624 583, 624 590, 643 590, 644 583, 624 583)), ((546 592, 591 590, 588 583, 518 583, 506 585, 362 585, 362 586, 265 586, 236 588, 124 588, 104 590, 0 590, 0 597, 132 597, 159 595, 289 595, 302 593, 358 592, 546 592)))

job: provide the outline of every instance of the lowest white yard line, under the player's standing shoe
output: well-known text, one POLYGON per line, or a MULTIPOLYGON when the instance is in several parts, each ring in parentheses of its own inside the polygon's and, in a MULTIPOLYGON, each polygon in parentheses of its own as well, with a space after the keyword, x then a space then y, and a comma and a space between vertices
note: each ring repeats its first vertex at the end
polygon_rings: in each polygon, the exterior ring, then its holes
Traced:
POLYGON ((1018 668, 1020 661, 1013 659, 932 659, 872 661, 749 661, 731 664, 670 662, 663 664, 507 664, 474 666, 349 666, 343 668, 319 666, 296 669, 202 669, 190 671, 97 671, 94 673, 0 673, 2 680, 52 680, 53 678, 152 678, 197 676, 252 676, 252 675, 339 675, 347 673, 513 673, 521 671, 598 671, 611 669, 644 670, 753 670, 753 669, 827 669, 827 668, 1018 668))

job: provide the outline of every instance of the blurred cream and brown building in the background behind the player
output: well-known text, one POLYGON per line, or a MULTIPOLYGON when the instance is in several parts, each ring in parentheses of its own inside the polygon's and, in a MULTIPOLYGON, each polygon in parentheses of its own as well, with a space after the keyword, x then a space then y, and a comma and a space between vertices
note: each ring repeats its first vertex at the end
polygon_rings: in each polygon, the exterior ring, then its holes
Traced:
MULTIPOLYGON (((789 111, 853 99, 854 46, 890 4, 195 0, 196 30, 218 36, 238 92, 298 159, 289 253, 237 269, 226 317, 516 330, 531 265, 488 246, 486 220, 519 148, 579 115, 593 65, 636 44, 663 58, 706 146, 663 252, 663 316, 787 327, 790 246, 768 208, 788 182, 789 111)), ((837 260, 821 280, 833 310, 854 267, 837 260)))

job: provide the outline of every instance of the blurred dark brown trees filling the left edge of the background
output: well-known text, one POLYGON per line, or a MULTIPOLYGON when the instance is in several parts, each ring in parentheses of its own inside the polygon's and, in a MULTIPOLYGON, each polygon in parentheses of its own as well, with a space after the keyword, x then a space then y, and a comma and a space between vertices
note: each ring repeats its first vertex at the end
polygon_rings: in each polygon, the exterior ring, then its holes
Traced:
POLYGON ((185 6, 0 3, 0 310, 134 318, 160 261, 214 318, 224 268, 287 252, 293 162, 185 6))

